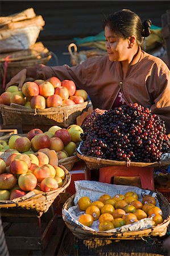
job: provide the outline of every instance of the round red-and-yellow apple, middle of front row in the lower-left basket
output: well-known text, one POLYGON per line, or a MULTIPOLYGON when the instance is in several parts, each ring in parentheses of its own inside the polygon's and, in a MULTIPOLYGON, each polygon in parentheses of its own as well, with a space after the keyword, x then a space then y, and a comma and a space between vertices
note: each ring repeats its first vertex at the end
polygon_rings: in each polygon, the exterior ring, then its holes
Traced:
POLYGON ((18 185, 23 191, 30 191, 37 185, 38 180, 34 174, 28 172, 27 174, 21 174, 18 177, 18 185))

